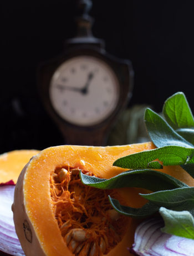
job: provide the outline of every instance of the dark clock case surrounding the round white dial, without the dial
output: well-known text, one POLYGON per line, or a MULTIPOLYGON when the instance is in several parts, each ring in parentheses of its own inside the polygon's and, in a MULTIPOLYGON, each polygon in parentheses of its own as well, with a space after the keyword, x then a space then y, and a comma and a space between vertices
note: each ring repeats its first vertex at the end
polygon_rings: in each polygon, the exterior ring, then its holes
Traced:
POLYGON ((79 130, 79 133, 83 132, 84 134, 85 132, 91 131, 94 132, 94 134, 97 134, 98 131, 106 134, 110 127, 115 123, 119 113, 126 107, 127 102, 129 102, 132 94, 131 92, 133 87, 133 70, 131 62, 128 60, 120 60, 119 58, 113 57, 106 53, 104 48, 100 48, 99 46, 76 45, 74 47, 70 47, 68 50, 64 51, 63 55, 47 63, 42 63, 42 65, 39 67, 38 74, 38 90, 40 93, 40 97, 42 97, 44 107, 49 112, 50 116, 52 116, 53 120, 57 122, 63 134, 65 132, 64 127, 65 130, 74 132, 77 132, 79 130), (57 70, 57 68, 62 65, 63 62, 67 61, 69 58, 76 56, 91 56, 99 58, 113 70, 115 76, 118 78, 119 81, 120 95, 117 106, 108 117, 95 125, 75 125, 68 122, 67 120, 64 120, 57 113, 57 111, 55 111, 52 102, 50 101, 49 86, 55 70, 57 70))

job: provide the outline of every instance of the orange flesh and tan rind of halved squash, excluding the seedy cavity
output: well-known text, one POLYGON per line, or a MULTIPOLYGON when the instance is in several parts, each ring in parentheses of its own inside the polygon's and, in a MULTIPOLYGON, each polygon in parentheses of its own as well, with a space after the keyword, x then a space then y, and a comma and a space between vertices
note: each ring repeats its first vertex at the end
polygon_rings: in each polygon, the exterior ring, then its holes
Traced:
MULTIPOLYGON (((79 169, 89 170, 100 178, 109 179, 124 171, 113 166, 116 159, 154 148, 151 142, 111 147, 65 145, 49 147, 34 156, 22 170, 14 194, 14 223, 24 253, 27 256, 74 255, 64 243, 53 212, 49 178, 55 168, 62 168, 64 164, 76 166, 79 169)), ((188 185, 194 185, 191 176, 179 166, 167 167, 162 171, 188 185)), ((138 195, 144 190, 124 188, 117 191, 128 206, 139 208, 146 202, 138 195)), ((132 244, 134 223, 136 221, 131 222, 129 218, 126 234, 121 242, 106 254, 107 256, 130 255, 126 248, 132 244)))

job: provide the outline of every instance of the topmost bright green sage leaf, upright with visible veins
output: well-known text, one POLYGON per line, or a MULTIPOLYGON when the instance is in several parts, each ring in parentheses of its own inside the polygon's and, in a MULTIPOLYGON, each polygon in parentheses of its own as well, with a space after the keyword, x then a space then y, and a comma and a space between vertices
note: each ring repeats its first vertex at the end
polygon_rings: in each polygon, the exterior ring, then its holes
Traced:
POLYGON ((183 92, 177 92, 165 101, 163 114, 173 129, 194 127, 194 119, 183 92))

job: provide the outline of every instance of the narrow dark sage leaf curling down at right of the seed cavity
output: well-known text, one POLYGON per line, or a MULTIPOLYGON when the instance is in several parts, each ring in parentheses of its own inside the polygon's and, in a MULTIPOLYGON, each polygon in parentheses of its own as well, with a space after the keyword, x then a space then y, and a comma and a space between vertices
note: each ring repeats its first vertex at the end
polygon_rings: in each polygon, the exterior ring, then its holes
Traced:
POLYGON ((150 202, 143 205, 141 208, 132 208, 130 206, 121 205, 118 200, 111 198, 110 196, 109 201, 113 208, 118 211, 118 213, 132 218, 146 218, 156 213, 160 209, 159 206, 150 202))

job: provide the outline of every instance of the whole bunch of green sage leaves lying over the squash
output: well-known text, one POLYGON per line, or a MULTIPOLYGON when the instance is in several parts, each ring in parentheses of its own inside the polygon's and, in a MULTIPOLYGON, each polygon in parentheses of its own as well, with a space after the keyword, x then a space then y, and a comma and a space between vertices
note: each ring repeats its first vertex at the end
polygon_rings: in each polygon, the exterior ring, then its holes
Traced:
POLYGON ((109 200, 116 211, 127 216, 145 218, 159 212, 165 221, 164 232, 194 239, 194 188, 151 170, 181 165, 194 178, 194 118, 182 92, 165 101, 162 114, 164 118, 151 109, 145 111, 146 129, 157 148, 121 157, 113 164, 131 170, 107 180, 80 173, 80 179, 100 189, 127 186, 153 191, 140 194, 149 202, 139 209, 121 205, 110 196, 109 200))

